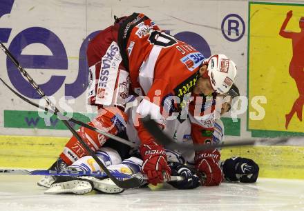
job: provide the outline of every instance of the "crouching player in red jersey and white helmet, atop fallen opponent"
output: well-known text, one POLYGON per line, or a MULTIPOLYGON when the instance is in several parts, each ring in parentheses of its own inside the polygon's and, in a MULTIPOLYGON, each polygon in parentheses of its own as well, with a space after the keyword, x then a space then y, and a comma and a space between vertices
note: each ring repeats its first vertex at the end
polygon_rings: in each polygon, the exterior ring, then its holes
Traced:
MULTIPOLYGON (((209 143, 213 128, 199 118, 214 110, 214 106, 211 110, 203 109, 206 97, 215 99, 216 93, 227 92, 236 77, 236 65, 225 55, 207 59, 187 43, 160 31, 144 14, 137 13, 115 18, 113 26, 99 32, 88 45, 87 57, 88 103, 99 108, 90 124, 112 134, 125 130, 128 118, 124 106, 130 94, 137 94, 145 96, 137 106, 138 116, 151 114, 163 128, 167 117, 173 114, 180 121, 187 119, 183 111, 187 111, 190 103, 193 143, 209 143), (200 106, 196 106, 198 101, 200 106)), ((146 131, 140 119, 135 128, 141 141, 142 171, 150 183, 160 183, 163 174, 167 177, 171 174, 164 148, 146 131)), ((80 128, 79 134, 95 151, 108 139, 87 128, 80 128)), ((72 137, 53 167, 60 163, 70 165, 85 155, 86 150, 72 137)), ((219 159, 219 152, 213 150, 196 152, 196 168, 207 173, 204 185, 220 184, 219 159)))

